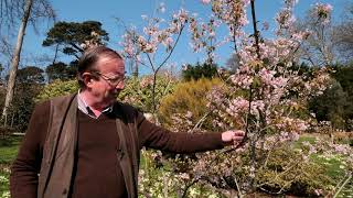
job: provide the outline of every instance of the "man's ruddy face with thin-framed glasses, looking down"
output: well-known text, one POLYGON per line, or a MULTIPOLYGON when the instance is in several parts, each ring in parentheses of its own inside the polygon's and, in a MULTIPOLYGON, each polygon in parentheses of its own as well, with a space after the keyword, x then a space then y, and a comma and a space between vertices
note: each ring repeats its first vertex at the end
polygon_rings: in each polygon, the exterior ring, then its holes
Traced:
POLYGON ((97 73, 92 73, 89 86, 92 97, 101 106, 110 106, 116 101, 118 94, 124 89, 124 61, 111 57, 100 57, 95 65, 97 73))

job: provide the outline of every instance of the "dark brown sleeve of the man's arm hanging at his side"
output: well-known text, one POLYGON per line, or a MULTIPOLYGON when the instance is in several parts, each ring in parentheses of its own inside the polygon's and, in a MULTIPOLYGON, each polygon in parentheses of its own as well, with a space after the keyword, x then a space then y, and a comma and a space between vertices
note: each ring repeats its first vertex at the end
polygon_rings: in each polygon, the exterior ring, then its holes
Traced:
POLYGON ((12 198, 36 198, 42 150, 49 125, 50 102, 38 105, 32 113, 19 154, 11 167, 12 198))

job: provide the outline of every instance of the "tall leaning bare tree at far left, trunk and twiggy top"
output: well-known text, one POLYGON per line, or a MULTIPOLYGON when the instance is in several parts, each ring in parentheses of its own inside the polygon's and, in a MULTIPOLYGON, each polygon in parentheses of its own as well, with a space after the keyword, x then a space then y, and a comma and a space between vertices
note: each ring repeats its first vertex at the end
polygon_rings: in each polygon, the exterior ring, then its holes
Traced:
POLYGON ((35 29, 35 21, 41 18, 54 19, 55 14, 46 0, 0 0, 0 14, 1 14, 1 25, 7 25, 8 29, 15 26, 17 21, 14 16, 21 16, 20 28, 18 32, 15 47, 13 50, 10 75, 7 87, 7 96, 4 101, 4 107, 2 111, 2 119, 4 120, 4 125, 7 124, 8 109, 12 102, 15 77, 20 63, 20 55, 22 50, 22 43, 25 34, 25 29, 28 23, 32 23, 35 29))

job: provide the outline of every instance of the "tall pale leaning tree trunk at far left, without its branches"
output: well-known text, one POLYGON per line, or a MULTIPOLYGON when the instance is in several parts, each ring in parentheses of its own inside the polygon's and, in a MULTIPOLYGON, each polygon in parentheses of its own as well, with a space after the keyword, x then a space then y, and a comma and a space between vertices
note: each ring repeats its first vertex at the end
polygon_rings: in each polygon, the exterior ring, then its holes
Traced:
MULTIPOLYGON (((13 51, 12 62, 11 62, 11 68, 10 68, 10 76, 8 81, 8 88, 7 88, 7 97, 4 100, 4 106, 2 110, 2 119, 7 120, 8 117, 8 110, 12 102, 13 92, 14 92, 14 82, 15 82, 15 76, 19 68, 19 62, 20 62, 20 55, 21 55, 21 48, 23 43, 23 37, 25 33, 26 23, 29 21, 30 14, 31 14, 31 8, 33 4, 33 0, 26 0, 24 6, 24 13, 22 18, 22 22, 20 24, 18 40, 15 44, 15 48, 13 51)), ((7 123, 4 123, 7 125, 7 123)))

